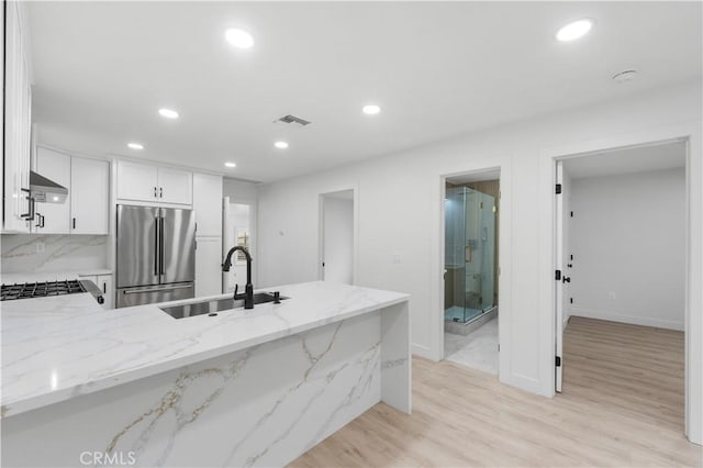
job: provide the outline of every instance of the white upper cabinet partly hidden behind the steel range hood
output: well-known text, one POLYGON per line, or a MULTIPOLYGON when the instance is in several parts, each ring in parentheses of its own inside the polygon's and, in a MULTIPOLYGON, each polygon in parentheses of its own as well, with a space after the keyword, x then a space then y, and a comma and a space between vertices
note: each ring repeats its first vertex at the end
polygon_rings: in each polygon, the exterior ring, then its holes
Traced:
MULTIPOLYGON (((53 149, 36 148, 36 172, 68 189, 71 197, 71 161, 70 155, 53 149)), ((107 209, 105 208, 103 211, 107 209)), ((32 231, 38 234, 68 234, 70 203, 36 203, 36 214, 32 231)))

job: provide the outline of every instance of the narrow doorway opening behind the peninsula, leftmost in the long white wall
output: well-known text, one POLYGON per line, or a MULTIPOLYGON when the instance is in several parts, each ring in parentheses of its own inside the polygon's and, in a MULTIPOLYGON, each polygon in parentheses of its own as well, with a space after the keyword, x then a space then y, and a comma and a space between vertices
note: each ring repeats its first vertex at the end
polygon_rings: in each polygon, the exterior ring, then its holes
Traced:
POLYGON ((355 193, 354 189, 320 196, 320 279, 354 283, 355 193))

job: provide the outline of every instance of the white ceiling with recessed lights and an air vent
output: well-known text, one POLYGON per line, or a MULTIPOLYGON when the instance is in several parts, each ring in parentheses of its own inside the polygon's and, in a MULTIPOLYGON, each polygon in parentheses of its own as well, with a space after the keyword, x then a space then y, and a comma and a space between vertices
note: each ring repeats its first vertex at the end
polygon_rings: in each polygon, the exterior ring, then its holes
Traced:
POLYGON ((700 79, 703 65, 701 2, 26 4, 43 143, 260 181, 700 79), (591 34, 555 41, 583 16, 591 34), (228 46, 232 26, 255 46, 228 46), (638 80, 611 80, 631 68, 638 80), (312 125, 271 123, 289 113, 312 125))

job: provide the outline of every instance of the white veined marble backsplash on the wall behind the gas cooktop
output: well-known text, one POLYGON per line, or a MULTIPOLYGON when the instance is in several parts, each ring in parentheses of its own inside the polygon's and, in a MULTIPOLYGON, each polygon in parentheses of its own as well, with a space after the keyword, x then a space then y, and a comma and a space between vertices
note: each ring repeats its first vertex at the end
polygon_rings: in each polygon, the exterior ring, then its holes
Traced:
POLYGON ((2 234, 3 274, 105 268, 107 235, 2 234))

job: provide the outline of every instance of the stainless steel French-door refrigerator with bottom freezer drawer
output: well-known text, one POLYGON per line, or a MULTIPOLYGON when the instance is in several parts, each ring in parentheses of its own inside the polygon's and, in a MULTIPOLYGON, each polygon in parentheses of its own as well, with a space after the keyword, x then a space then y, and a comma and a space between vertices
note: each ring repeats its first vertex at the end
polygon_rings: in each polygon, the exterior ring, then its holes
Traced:
POLYGON ((192 210, 118 205, 116 307, 194 297, 192 210))

